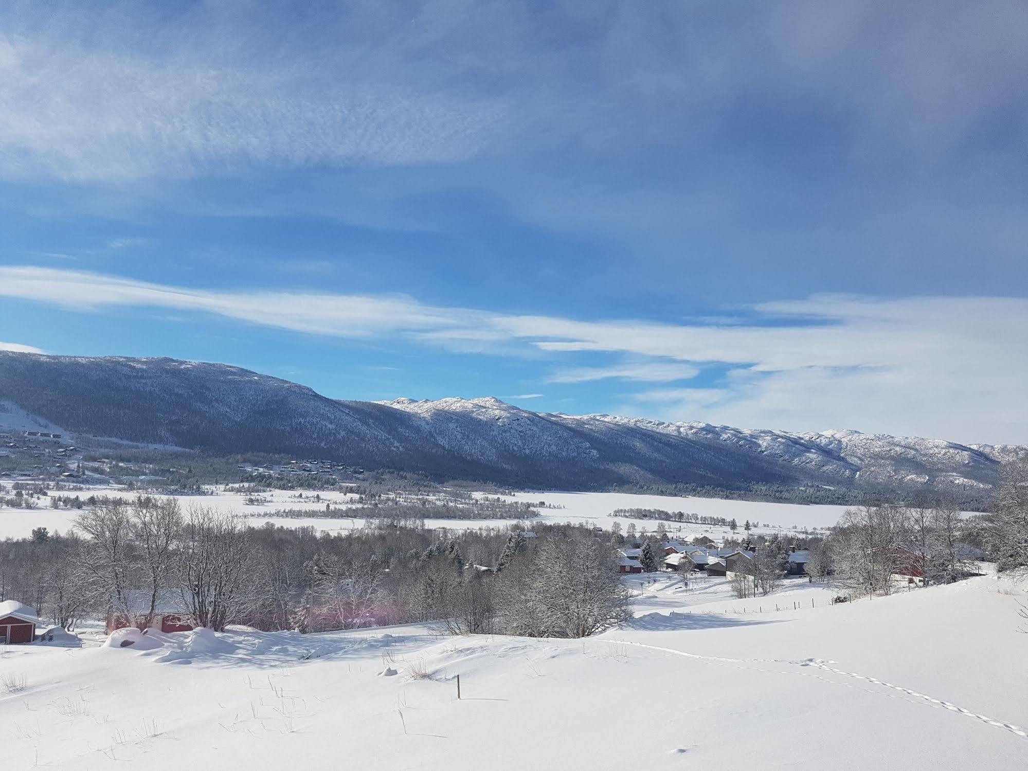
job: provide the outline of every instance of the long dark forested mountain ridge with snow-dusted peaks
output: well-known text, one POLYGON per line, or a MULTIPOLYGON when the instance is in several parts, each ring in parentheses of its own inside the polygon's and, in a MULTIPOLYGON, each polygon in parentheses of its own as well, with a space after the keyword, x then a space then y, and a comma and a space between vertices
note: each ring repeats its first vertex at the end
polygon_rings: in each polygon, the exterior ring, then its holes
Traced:
MULTIPOLYGON (((1028 448, 520 409, 491 397, 338 401, 224 364, 0 352, 0 402, 65 431, 219 452, 319 455, 527 487, 757 483, 986 490, 1028 448)), ((2 416, 2 415, 0 415, 2 416)))

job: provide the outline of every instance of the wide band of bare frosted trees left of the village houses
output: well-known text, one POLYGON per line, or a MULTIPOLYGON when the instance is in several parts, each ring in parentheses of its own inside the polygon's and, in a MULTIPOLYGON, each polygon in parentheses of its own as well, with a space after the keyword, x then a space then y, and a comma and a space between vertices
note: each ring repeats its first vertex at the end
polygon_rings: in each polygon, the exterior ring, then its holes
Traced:
POLYGON ((174 499, 97 498, 68 535, 38 528, 0 543, 0 599, 66 628, 107 614, 146 627, 169 595, 214 629, 435 620, 460 633, 580 636, 627 617, 614 550, 588 527, 432 530, 383 519, 318 535, 244 522, 183 512, 174 499))

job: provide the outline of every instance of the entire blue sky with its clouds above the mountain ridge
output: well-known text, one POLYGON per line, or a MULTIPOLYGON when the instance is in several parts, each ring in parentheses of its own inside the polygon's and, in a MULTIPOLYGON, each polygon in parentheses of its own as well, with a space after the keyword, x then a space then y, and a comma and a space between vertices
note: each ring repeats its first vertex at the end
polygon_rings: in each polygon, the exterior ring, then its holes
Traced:
POLYGON ((1022 2, 5 3, 0 340, 1028 442, 1022 2))

